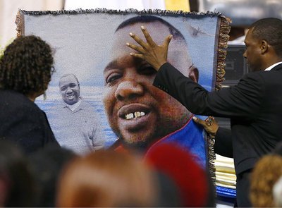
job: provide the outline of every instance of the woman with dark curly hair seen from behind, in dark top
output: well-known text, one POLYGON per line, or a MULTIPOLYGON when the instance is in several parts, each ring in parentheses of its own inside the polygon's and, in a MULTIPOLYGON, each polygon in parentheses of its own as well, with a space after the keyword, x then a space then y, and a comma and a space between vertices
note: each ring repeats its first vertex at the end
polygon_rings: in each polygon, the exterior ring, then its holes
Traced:
POLYGON ((13 140, 27 153, 59 146, 34 103, 47 90, 53 63, 49 44, 35 36, 16 38, 0 59, 0 139, 13 140))

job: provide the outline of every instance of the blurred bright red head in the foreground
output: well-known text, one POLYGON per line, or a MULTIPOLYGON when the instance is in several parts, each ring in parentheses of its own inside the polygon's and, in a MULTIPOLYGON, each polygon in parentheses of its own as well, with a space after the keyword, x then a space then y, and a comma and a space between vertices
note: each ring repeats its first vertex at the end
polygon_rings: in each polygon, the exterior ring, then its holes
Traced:
POLYGON ((171 142, 154 146, 145 155, 145 161, 176 184, 181 207, 214 207, 212 178, 193 157, 177 143, 171 142))

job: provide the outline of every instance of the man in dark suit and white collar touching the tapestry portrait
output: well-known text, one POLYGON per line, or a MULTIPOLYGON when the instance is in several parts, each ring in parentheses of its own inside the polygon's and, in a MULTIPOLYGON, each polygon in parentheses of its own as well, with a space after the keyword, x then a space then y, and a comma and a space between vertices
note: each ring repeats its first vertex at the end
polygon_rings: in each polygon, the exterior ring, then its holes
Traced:
POLYGON ((282 140, 282 21, 265 18, 250 26, 244 56, 252 73, 244 75, 238 85, 218 92, 207 92, 166 61, 172 35, 160 46, 145 27, 142 32, 147 43, 130 33, 141 47, 127 45, 138 51, 130 53, 132 56, 145 59, 158 71, 154 86, 166 90, 194 114, 231 118, 237 204, 251 206, 250 173, 256 161, 282 140))

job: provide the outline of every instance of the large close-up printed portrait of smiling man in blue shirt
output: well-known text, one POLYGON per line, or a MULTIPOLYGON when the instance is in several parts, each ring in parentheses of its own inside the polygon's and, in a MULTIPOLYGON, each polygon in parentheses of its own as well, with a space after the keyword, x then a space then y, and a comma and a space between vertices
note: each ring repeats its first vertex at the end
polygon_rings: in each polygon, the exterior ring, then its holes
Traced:
POLYGON ((195 82, 199 72, 192 64, 185 38, 173 25, 156 16, 125 20, 114 33, 109 62, 104 68, 104 109, 118 140, 114 149, 136 147, 144 154, 157 142, 176 142, 205 164, 202 128, 192 122, 192 113, 166 92, 152 86, 157 71, 148 63, 130 56, 129 33, 144 37, 145 26, 157 44, 172 34, 168 62, 195 82))

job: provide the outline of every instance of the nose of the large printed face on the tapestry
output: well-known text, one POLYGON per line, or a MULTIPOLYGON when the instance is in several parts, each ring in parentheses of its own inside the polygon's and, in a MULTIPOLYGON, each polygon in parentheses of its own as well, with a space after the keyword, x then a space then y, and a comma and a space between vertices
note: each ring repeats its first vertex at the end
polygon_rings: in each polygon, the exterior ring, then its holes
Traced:
POLYGON ((133 97, 138 97, 144 92, 142 85, 133 80, 126 80, 118 85, 115 92, 115 97, 117 99, 130 99, 133 97))

